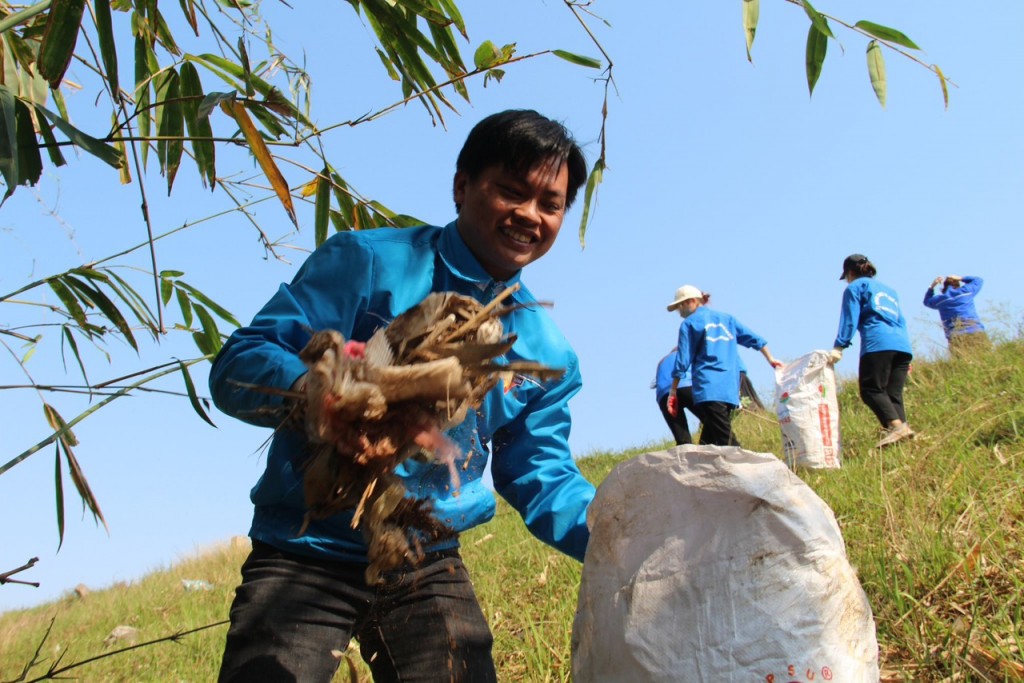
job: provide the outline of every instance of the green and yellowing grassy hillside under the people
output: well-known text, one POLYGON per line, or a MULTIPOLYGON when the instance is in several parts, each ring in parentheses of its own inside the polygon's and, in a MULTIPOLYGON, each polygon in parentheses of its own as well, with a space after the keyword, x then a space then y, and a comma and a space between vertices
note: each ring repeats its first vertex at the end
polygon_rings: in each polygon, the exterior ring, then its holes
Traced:
MULTIPOLYGON (((874 610, 884 680, 1024 680, 1024 343, 965 361, 915 362, 906 401, 919 436, 880 452, 873 417, 856 387, 844 385, 843 469, 802 473, 843 528, 874 610)), ((736 430, 746 447, 779 453, 770 417, 742 414, 736 430)), ((581 467, 599 482, 624 459, 668 445, 599 454, 581 467)), ((532 540, 504 505, 463 543, 495 632, 500 679, 567 681, 580 565, 532 540)), ((38 680, 50 666, 124 647, 131 641, 104 644, 118 626, 137 629, 142 643, 222 622, 245 553, 225 547, 131 585, 0 615, 0 681, 38 680), (186 591, 186 580, 212 589, 186 591)), ((211 681, 225 630, 220 624, 68 675, 211 681)), ((336 680, 349 680, 347 667, 336 680)))

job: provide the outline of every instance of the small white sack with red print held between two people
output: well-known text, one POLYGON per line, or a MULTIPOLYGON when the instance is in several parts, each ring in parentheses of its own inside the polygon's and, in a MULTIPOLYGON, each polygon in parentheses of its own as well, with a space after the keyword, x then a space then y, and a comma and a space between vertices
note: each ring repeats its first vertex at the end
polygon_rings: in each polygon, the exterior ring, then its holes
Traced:
POLYGON ((811 351, 775 372, 775 411, 790 467, 839 469, 839 401, 828 351, 811 351))

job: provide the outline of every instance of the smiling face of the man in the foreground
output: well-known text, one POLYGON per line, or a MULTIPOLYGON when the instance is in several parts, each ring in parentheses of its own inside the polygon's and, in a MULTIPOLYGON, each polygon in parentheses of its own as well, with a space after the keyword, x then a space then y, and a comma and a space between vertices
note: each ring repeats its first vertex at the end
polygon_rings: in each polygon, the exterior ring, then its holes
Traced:
POLYGON ((477 177, 455 175, 459 233, 499 281, 548 253, 565 217, 568 169, 541 164, 525 175, 488 166, 477 177))

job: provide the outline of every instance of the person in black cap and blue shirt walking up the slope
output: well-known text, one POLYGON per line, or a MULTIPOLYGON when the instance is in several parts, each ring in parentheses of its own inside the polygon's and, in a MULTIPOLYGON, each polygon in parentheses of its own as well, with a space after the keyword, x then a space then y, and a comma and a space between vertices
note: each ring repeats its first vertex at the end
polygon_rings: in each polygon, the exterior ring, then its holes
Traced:
POLYGON ((913 354, 899 296, 888 285, 874 280, 878 269, 863 254, 843 261, 840 280, 843 292, 839 333, 833 344, 831 361, 839 362, 854 333, 860 333, 860 399, 874 413, 885 434, 879 446, 913 436, 906 422, 903 386, 913 354))

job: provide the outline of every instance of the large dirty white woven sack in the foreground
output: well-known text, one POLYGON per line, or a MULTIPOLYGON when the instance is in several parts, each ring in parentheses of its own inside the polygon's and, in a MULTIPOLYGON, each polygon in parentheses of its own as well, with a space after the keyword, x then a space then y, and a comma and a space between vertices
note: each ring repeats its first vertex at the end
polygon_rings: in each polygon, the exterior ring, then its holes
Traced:
POLYGON ((600 485, 588 524, 574 683, 879 680, 836 518, 775 456, 638 456, 600 485))

